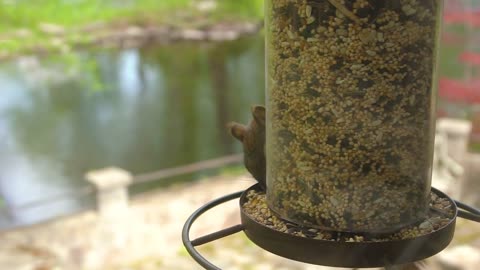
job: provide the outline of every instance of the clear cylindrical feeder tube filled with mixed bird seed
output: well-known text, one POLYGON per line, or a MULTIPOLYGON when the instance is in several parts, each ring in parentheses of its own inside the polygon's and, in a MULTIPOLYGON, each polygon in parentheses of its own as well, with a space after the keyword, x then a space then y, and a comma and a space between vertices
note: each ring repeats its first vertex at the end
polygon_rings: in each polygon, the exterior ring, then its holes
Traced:
POLYGON ((266 0, 272 211, 373 233, 425 215, 441 11, 441 0, 266 0))

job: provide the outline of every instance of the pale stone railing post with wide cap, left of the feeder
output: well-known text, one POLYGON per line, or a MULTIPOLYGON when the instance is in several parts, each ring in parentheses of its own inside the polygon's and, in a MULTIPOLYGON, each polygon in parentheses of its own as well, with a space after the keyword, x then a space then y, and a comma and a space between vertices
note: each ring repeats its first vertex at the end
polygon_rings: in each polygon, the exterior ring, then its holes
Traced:
POLYGON ((110 167, 88 172, 86 180, 97 189, 97 211, 100 216, 121 216, 127 212, 131 173, 110 167))

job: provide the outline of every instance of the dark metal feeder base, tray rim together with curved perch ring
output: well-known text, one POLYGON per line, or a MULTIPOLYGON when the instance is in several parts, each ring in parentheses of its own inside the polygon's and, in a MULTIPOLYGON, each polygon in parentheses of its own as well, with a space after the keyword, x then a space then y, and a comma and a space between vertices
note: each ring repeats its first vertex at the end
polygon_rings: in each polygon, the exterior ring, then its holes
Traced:
POLYGON ((245 213, 244 204, 247 193, 259 190, 254 185, 244 192, 237 192, 212 201, 193 213, 185 223, 182 232, 183 243, 189 254, 205 269, 220 269, 202 257, 195 246, 212 242, 225 236, 244 231, 247 237, 259 247, 279 256, 300 262, 350 268, 386 267, 411 263, 431 257, 451 242, 457 215, 480 222, 480 212, 459 202, 454 202, 444 193, 432 188, 432 192, 440 198, 448 199, 454 208, 454 215, 447 225, 428 234, 416 238, 391 241, 348 242, 306 238, 277 231, 255 221, 245 213), (200 237, 190 241, 189 232, 193 222, 206 211, 224 202, 240 198, 241 225, 200 237), (457 206, 466 211, 458 211, 457 206))

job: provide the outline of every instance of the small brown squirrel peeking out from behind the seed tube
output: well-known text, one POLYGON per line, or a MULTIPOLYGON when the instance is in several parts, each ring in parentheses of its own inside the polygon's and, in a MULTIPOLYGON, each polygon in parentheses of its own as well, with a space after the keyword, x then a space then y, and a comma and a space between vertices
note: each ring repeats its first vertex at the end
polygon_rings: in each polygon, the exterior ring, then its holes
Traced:
POLYGON ((253 119, 248 125, 235 122, 229 123, 228 128, 233 137, 243 144, 243 162, 250 172, 266 191, 266 160, 265 160, 265 107, 256 105, 252 107, 253 119))

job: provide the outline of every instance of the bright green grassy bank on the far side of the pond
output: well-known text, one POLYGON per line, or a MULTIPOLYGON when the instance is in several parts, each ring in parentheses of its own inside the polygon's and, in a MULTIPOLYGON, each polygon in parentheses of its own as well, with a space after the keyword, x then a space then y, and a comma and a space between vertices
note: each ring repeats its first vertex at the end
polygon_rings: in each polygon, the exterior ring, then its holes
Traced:
POLYGON ((59 49, 58 38, 40 28, 50 24, 65 29, 64 44, 88 42, 89 34, 78 29, 94 23, 106 25, 181 25, 202 18, 203 21, 260 20, 263 0, 217 0, 212 12, 201 12, 194 3, 199 0, 0 0, 0 56, 18 54, 41 45, 47 50, 59 49), (121 4, 120 4, 121 3, 121 4))

